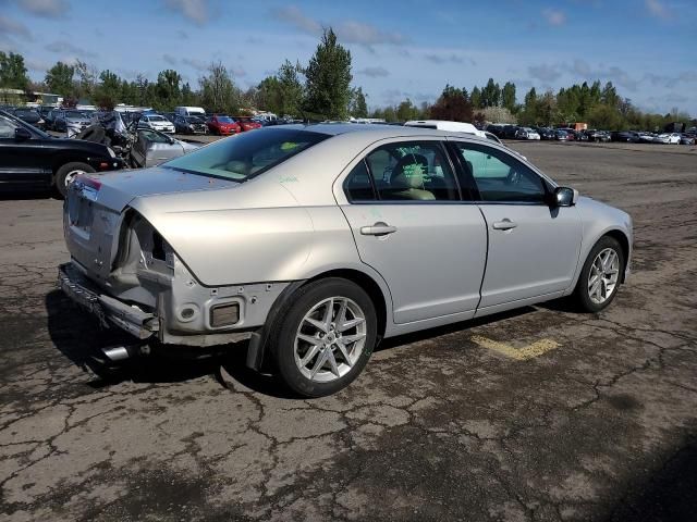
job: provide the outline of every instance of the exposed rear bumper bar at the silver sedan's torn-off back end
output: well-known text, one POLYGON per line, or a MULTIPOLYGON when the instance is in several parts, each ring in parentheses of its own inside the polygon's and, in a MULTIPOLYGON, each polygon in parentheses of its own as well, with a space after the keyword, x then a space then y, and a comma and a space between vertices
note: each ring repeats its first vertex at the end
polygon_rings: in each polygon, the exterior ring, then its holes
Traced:
POLYGON ((72 263, 59 266, 58 286, 105 327, 115 325, 139 339, 147 339, 159 330, 158 319, 154 314, 101 294, 72 263))

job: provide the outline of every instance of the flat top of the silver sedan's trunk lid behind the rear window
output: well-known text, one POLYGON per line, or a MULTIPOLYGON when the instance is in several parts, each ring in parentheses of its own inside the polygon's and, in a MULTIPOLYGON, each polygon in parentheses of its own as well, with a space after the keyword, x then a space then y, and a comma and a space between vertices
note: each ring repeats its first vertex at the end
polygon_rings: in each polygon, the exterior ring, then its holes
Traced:
MULTIPOLYGON (((239 183, 156 166, 151 169, 89 174, 99 204, 121 212, 136 198, 198 190, 233 188, 239 183)), ((75 183, 82 183, 80 178, 75 183)))

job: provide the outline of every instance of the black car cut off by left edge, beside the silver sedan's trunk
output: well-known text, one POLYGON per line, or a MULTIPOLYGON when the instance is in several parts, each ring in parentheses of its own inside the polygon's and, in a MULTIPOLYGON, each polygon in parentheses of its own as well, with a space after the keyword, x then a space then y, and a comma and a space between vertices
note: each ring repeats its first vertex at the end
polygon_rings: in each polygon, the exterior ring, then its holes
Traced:
POLYGON ((109 147, 49 136, 0 111, 0 190, 53 188, 65 196, 78 174, 114 171, 123 161, 109 147))

